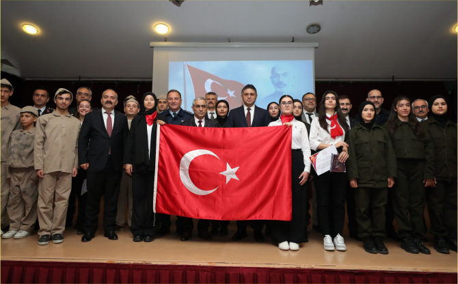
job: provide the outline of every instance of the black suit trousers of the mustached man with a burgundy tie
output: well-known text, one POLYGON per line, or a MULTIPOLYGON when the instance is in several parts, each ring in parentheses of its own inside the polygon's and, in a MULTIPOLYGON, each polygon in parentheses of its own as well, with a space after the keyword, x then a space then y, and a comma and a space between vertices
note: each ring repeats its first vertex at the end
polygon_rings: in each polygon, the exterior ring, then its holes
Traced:
POLYGON ((95 233, 100 211, 100 197, 105 195, 103 207, 103 229, 114 231, 116 214, 118 213, 118 196, 121 184, 122 171, 115 171, 111 166, 111 158, 107 160, 105 169, 100 172, 86 172, 87 177, 87 205, 85 232, 95 233))

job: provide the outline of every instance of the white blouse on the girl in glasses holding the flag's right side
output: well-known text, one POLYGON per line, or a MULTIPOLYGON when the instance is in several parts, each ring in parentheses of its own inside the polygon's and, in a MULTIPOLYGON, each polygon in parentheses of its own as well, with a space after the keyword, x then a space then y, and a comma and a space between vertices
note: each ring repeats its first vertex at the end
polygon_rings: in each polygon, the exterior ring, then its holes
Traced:
MULTIPOLYGON (((291 149, 296 150, 296 149, 301 149, 302 154, 304 155, 304 171, 310 173, 310 145, 308 143, 308 133, 307 133, 307 128, 306 125, 303 122, 298 122, 296 119, 293 119, 291 121, 291 126, 293 128, 293 137, 291 139, 291 149)), ((281 126, 282 120, 279 118, 275 122, 271 122, 269 126, 281 126)))

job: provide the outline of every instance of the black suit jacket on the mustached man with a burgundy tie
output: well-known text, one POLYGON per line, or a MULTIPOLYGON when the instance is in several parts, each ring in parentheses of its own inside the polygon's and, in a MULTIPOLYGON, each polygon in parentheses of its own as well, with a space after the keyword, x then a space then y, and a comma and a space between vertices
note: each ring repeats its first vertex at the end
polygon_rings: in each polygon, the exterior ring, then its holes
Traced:
POLYGON ((85 115, 78 138, 79 165, 89 163, 87 171, 99 172, 105 169, 111 147, 111 165, 115 171, 122 171, 124 145, 129 134, 126 115, 114 111, 111 137, 103 122, 103 109, 85 115))

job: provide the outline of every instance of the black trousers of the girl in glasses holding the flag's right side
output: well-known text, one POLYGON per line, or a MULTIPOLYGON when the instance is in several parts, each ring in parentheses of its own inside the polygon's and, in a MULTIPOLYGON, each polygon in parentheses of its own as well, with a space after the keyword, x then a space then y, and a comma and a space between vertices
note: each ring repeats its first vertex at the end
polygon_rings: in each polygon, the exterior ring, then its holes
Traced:
POLYGON ((304 171, 304 156, 301 150, 291 152, 291 221, 271 221, 272 233, 278 242, 304 241, 306 236, 306 209, 308 184, 301 186, 299 176, 304 171))

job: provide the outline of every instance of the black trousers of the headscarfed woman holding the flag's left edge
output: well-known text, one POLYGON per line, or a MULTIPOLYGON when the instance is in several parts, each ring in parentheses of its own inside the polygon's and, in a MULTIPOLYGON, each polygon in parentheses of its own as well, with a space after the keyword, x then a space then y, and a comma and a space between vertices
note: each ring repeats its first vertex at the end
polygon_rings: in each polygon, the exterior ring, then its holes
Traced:
POLYGON ((132 173, 132 223, 131 231, 154 236, 156 233, 155 215, 152 208, 154 201, 154 171, 132 173))

